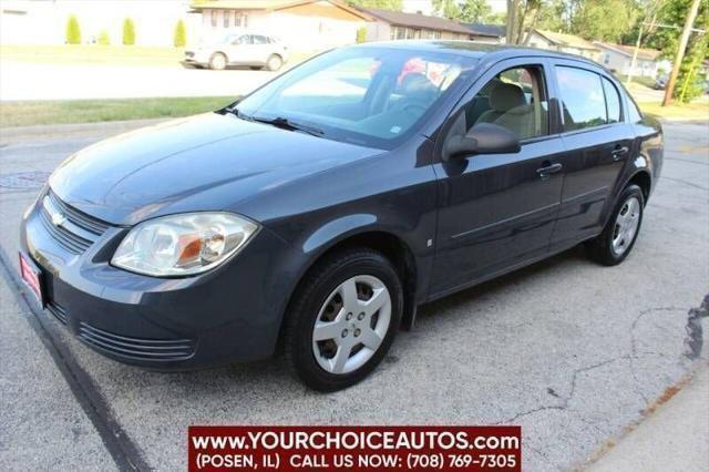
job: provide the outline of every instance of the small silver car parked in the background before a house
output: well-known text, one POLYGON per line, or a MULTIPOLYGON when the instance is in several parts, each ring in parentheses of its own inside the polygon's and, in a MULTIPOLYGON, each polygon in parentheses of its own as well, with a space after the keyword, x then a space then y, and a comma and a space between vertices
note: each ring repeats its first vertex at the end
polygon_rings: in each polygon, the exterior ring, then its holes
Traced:
POLYGON ((185 51, 184 63, 220 71, 227 65, 248 65, 277 71, 288 60, 288 48, 266 34, 229 34, 213 44, 185 51))

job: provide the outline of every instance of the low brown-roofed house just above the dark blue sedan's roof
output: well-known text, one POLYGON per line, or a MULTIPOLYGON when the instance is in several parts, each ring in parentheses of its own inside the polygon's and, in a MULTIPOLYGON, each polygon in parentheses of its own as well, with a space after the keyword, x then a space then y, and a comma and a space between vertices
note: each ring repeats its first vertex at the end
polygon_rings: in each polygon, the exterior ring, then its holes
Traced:
POLYGON ((421 13, 360 8, 373 21, 367 24, 367 41, 400 39, 469 40, 471 31, 455 21, 421 13))

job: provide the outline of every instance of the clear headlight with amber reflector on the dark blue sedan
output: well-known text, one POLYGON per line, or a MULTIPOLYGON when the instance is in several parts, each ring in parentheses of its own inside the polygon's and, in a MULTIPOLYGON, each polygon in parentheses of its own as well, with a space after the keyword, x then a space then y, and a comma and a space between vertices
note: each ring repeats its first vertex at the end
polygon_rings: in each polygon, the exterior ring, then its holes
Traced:
POLYGON ((155 277, 199 274, 238 252, 257 229, 230 213, 163 216, 131 229, 111 264, 155 277))

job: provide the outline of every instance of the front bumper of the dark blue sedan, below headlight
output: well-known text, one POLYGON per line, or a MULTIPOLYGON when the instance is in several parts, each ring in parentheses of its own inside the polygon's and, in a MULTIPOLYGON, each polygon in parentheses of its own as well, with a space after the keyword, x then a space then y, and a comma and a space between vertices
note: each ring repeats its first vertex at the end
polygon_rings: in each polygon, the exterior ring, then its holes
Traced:
POLYGON ((267 228, 214 270, 155 278, 109 264, 127 228, 109 226, 81 253, 56 238, 42 212, 35 204, 25 213, 21 249, 41 269, 47 310, 91 348, 155 370, 274 352, 295 285, 288 277, 295 271, 279 265, 297 255, 267 228))

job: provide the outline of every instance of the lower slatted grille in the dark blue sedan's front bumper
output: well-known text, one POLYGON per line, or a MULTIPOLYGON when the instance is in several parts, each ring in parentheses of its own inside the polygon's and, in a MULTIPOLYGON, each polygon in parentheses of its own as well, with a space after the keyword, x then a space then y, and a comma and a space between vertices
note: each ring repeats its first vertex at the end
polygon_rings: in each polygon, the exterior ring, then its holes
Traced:
POLYGON ((191 358, 195 351, 192 339, 143 339, 114 335, 81 321, 79 339, 97 350, 129 359, 171 361, 191 358))

